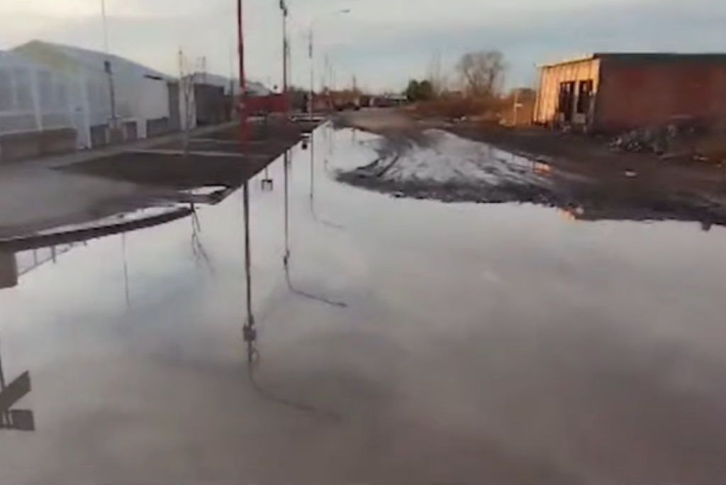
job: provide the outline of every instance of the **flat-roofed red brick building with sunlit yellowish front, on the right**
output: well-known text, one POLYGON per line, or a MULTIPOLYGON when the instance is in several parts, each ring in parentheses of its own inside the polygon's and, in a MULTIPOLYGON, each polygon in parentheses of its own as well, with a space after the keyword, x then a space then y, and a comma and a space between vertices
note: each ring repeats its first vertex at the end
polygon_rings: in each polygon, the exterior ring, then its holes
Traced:
POLYGON ((726 54, 596 53, 544 65, 534 122, 592 131, 726 118, 726 54))

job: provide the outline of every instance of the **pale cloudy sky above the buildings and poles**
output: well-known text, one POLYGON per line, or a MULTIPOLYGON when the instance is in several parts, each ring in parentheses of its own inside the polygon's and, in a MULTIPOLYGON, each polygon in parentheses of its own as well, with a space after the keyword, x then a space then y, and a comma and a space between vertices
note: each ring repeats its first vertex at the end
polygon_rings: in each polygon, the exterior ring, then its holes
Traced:
MULTIPOLYGON (((108 45, 171 75, 237 68, 235 0, 105 0, 108 45), (202 62, 201 59, 204 59, 202 62)), ((248 78, 279 86, 279 0, 243 0, 248 78)), ((435 59, 452 82, 465 52, 497 49, 507 86, 533 86, 536 66, 591 52, 726 51, 723 0, 287 0, 293 82, 401 91, 435 59), (348 9, 348 13, 341 11, 348 9), (325 59, 327 58, 326 68, 325 59)), ((101 0, 0 0, 0 49, 32 39, 104 48, 101 0)))

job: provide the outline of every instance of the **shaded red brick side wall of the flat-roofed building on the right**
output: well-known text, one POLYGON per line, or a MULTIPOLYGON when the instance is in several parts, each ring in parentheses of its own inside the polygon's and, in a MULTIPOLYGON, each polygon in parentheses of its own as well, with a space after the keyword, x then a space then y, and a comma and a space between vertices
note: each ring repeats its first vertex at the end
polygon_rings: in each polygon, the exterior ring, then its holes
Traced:
POLYGON ((596 127, 656 126, 675 116, 726 118, 726 64, 603 61, 596 127))

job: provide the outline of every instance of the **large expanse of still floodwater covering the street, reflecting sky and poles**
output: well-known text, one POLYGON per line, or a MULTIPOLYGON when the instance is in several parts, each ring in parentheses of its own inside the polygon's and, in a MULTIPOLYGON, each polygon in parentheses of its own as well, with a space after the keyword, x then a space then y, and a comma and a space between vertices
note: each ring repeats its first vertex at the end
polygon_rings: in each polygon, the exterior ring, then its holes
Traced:
POLYGON ((2 483, 723 481, 725 229, 396 199, 314 138, 290 285, 285 164, 250 181, 251 368, 241 190, 0 291, 2 483))

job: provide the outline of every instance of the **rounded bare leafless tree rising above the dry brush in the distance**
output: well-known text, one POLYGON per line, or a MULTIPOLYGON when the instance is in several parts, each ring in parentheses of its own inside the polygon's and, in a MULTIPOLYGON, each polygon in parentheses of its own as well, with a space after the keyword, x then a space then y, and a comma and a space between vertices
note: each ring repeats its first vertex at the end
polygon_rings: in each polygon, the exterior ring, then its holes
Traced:
POLYGON ((496 97, 505 75, 504 55, 499 51, 478 51, 464 54, 457 63, 462 87, 474 97, 496 97))

